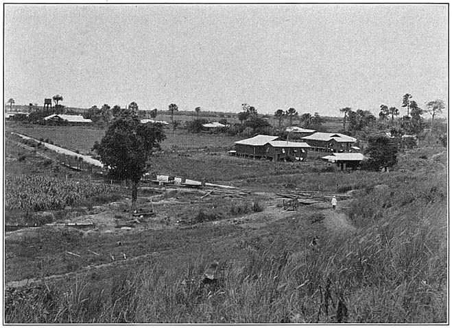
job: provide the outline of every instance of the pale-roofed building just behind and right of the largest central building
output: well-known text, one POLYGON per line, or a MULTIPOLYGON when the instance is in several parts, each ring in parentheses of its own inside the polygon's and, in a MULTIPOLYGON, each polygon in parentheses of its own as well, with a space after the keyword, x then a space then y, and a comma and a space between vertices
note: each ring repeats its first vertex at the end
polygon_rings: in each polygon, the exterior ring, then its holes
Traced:
POLYGON ((348 153, 356 142, 356 138, 345 134, 328 132, 316 132, 303 137, 302 140, 305 140, 313 151, 324 151, 326 153, 348 153))

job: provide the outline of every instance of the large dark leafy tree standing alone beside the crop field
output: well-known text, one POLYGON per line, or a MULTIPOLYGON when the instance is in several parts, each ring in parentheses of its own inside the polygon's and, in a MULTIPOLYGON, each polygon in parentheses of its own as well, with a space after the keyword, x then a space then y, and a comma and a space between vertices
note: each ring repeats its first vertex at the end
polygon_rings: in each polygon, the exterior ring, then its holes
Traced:
POLYGON ((101 142, 96 142, 96 151, 101 162, 114 179, 132 182, 132 207, 136 205, 138 186, 148 168, 148 160, 154 149, 165 140, 160 124, 141 124, 133 110, 123 110, 113 121, 101 142))

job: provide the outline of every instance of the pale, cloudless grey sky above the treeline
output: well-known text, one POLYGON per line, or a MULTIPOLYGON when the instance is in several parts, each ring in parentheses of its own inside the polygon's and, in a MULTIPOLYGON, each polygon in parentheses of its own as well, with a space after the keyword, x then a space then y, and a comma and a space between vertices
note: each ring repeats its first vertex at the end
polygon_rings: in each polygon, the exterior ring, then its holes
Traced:
POLYGON ((448 101, 447 5, 5 5, 5 102, 259 113, 448 101))

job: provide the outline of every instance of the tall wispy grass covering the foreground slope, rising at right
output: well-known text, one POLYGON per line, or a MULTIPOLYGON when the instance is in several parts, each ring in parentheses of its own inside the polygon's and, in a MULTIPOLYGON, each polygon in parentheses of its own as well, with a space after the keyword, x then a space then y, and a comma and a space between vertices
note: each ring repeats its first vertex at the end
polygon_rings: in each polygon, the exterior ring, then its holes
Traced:
MULTIPOLYGON (((65 292, 6 293, 8 323, 445 323, 447 184, 440 176, 394 179, 357 195, 358 229, 310 247, 245 247, 200 283, 209 251, 165 270, 153 262, 107 281, 75 281, 65 292), (14 306, 13 306, 13 305, 14 306)), ((320 224, 320 223, 316 223, 320 224)))

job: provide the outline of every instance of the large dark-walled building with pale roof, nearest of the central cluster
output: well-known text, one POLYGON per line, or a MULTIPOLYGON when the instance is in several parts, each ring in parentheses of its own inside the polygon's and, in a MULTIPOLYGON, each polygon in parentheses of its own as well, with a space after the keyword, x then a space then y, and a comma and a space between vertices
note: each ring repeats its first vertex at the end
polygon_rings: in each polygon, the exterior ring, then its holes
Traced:
POLYGON ((278 136, 259 134, 252 138, 235 142, 235 151, 231 155, 239 157, 263 158, 278 161, 305 161, 309 144, 279 140, 278 136))

